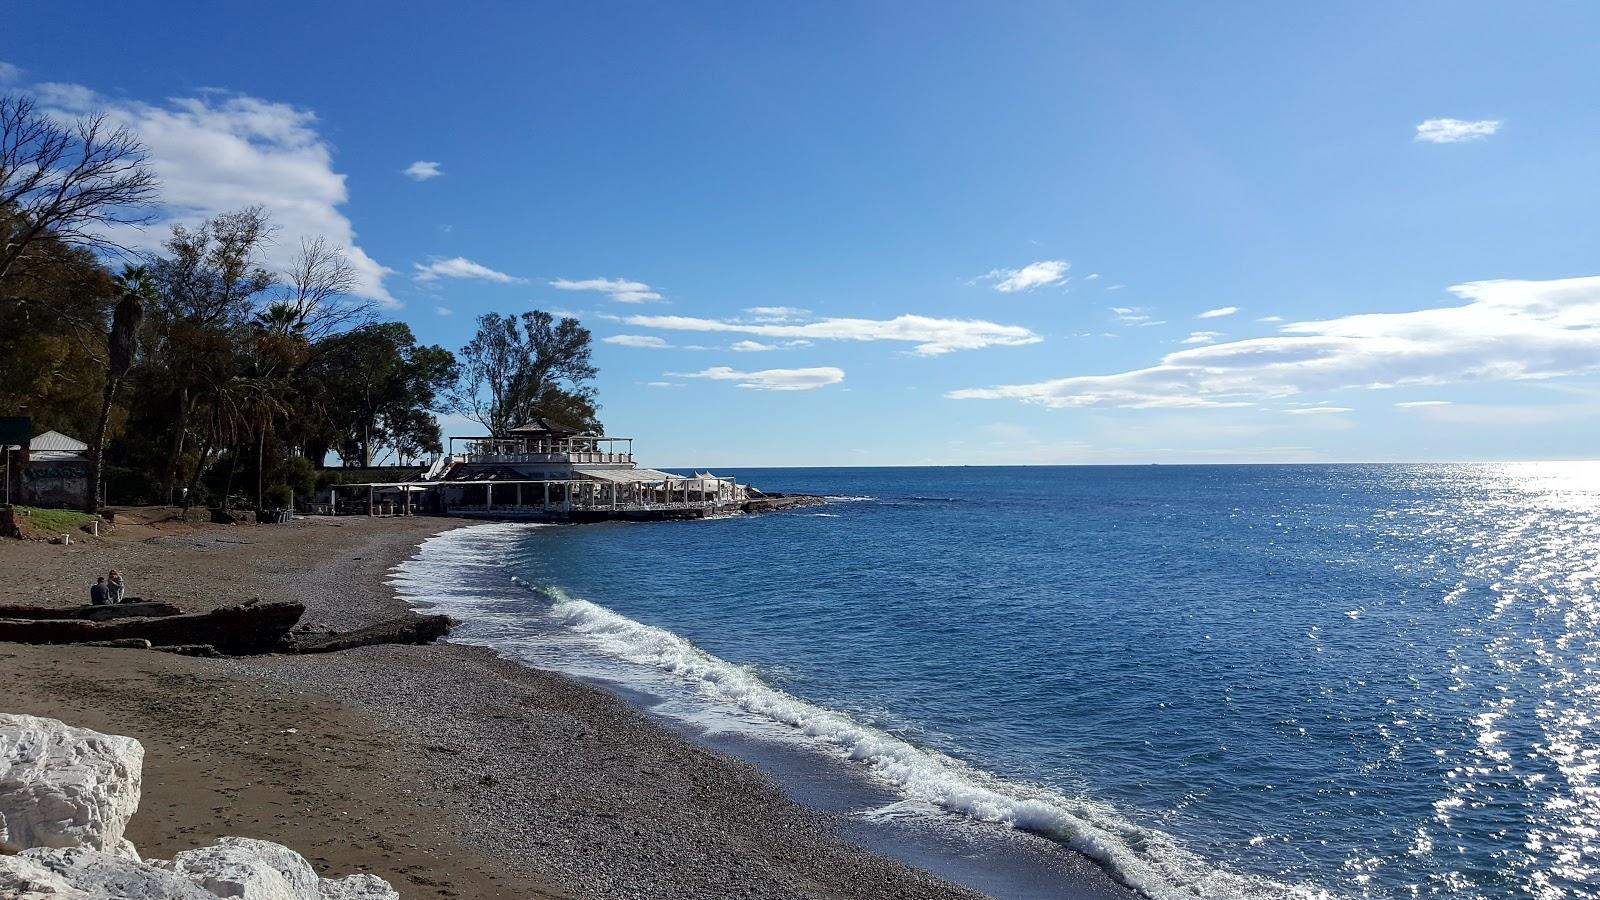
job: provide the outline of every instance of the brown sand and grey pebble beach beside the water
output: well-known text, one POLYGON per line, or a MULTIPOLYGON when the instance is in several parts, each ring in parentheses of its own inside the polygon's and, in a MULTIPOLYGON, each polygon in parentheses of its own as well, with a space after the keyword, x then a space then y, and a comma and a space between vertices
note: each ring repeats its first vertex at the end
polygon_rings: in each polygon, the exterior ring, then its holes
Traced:
MULTIPOLYGON (((386 572, 443 519, 122 524, 0 543, 0 602, 130 596, 202 610, 291 599, 350 628, 405 605, 386 572)), ((622 700, 462 645, 203 660, 0 644, 8 711, 146 746, 130 838, 170 855, 224 834, 406 897, 974 897, 840 838, 752 765, 622 700)))

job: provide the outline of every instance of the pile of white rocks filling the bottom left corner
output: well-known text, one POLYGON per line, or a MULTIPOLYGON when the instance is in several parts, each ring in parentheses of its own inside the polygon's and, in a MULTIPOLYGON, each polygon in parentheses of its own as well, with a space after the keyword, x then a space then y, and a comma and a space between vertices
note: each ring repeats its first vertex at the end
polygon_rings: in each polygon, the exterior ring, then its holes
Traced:
POLYGON ((398 900, 371 874, 318 878, 270 841, 222 838, 141 860, 144 746, 56 719, 0 713, 0 897, 16 900, 398 900))

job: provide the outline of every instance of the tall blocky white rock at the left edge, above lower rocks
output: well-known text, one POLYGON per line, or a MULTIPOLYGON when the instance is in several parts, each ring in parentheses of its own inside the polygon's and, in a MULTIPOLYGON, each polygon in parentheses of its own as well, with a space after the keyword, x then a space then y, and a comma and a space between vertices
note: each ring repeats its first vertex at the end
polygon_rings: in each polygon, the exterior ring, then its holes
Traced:
POLYGON ((0 850, 130 854, 122 834, 139 809, 142 765, 133 738, 0 713, 0 850))

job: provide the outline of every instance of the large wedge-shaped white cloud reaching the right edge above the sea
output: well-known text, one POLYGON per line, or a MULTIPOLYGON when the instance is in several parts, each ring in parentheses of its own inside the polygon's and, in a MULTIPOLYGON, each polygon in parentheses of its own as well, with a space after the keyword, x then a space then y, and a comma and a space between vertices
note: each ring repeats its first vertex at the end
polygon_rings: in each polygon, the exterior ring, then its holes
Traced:
POLYGON ((947 396, 1058 408, 1222 407, 1310 391, 1547 380, 1600 370, 1600 275, 1469 282, 1450 291, 1466 303, 1296 322, 1267 338, 1171 352, 1147 368, 947 396))

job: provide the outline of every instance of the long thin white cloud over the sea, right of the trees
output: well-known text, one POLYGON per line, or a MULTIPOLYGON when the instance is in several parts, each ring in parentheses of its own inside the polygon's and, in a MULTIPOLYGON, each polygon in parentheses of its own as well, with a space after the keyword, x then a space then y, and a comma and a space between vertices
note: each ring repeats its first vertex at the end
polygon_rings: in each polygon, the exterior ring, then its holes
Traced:
POLYGON ((918 356, 939 356, 982 348, 1014 348, 1037 344, 1043 338, 1021 325, 997 325, 978 319, 930 319, 898 315, 894 319, 819 319, 805 323, 738 322, 696 319, 690 315, 629 315, 622 320, 638 328, 667 331, 720 331, 760 338, 818 341, 906 341, 917 344, 918 356))

